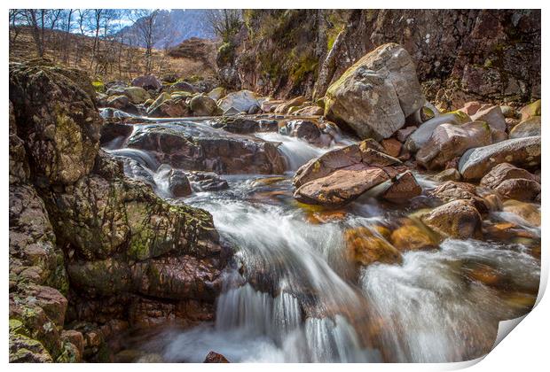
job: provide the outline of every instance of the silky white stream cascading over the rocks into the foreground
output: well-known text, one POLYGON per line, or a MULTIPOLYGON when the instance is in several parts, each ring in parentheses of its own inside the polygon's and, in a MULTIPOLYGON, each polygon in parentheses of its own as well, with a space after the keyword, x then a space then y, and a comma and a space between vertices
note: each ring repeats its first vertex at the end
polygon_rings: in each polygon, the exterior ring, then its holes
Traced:
MULTIPOLYGON (((356 267, 346 254, 346 229, 391 226, 414 210, 367 199, 318 221, 326 216, 322 211, 292 197, 294 171, 351 140, 319 148, 277 133, 257 136, 281 143, 290 172, 271 180, 222 175, 228 190, 185 198, 212 213, 216 229, 234 247, 216 321, 164 329, 140 347, 170 362, 201 362, 210 351, 232 362, 460 361, 488 353, 499 321, 530 310, 540 262, 523 241, 446 239, 437 250, 405 252, 401 265, 356 267), (472 277, 487 268, 499 285, 472 277)), ((169 167, 145 151, 110 151, 138 162, 157 193, 169 196, 163 183, 169 167)), ((436 185, 417 175, 422 188, 436 185)), ((540 236, 538 228, 523 229, 540 236)))

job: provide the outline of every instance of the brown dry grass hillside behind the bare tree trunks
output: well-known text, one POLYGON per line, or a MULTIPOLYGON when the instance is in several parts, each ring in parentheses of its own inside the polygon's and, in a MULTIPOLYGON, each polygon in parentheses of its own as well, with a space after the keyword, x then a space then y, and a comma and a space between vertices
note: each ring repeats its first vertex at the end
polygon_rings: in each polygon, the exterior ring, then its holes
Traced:
MULTIPOLYGON (((12 30, 10 30, 12 33, 12 30)), ((88 71, 98 81, 131 80, 145 74, 145 50, 116 42, 101 41, 100 52, 92 63, 93 38, 48 31, 45 35, 44 58, 64 66, 88 71), (67 38, 67 39, 66 39, 67 38), (67 45, 67 47, 66 47, 67 45)), ((216 76, 216 43, 191 43, 185 55, 169 55, 153 50, 153 74, 189 79, 216 76), (193 54, 193 45, 195 53, 193 54)), ((35 42, 28 27, 22 27, 16 43, 10 46, 10 61, 25 61, 38 57, 35 42)))

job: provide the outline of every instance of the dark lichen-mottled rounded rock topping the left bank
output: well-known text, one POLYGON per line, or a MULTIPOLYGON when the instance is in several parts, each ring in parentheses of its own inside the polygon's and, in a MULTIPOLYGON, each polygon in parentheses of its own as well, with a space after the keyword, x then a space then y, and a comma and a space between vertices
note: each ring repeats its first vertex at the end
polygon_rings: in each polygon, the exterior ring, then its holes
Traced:
POLYGON ((12 64, 10 100, 39 182, 67 184, 90 172, 103 120, 74 81, 48 67, 12 64))

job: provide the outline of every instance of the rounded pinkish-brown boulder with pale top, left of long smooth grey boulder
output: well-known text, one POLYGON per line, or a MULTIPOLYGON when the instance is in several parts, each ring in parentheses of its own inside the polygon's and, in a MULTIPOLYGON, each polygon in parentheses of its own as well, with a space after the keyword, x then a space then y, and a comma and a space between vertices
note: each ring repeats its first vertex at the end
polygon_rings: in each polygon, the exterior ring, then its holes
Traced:
POLYGON ((481 121, 463 125, 442 124, 416 153, 416 161, 428 169, 441 169, 468 149, 491 144, 491 128, 481 121))

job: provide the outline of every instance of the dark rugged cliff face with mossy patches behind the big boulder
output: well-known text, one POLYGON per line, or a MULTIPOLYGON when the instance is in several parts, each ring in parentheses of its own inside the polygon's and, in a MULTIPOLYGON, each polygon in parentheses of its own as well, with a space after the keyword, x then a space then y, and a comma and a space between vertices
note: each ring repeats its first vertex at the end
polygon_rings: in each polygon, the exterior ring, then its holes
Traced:
POLYGON ((400 43, 413 56, 428 99, 540 97, 538 10, 247 11, 245 25, 218 55, 232 88, 275 97, 323 97, 365 53, 400 43))

